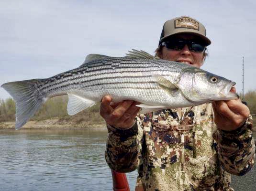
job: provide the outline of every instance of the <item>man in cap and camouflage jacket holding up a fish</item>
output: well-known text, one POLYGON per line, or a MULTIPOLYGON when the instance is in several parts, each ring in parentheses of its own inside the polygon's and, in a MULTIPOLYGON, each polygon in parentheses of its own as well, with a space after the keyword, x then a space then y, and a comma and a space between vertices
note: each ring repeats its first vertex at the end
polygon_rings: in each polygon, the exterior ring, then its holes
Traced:
MULTIPOLYGON (((205 27, 183 16, 165 22, 156 55, 200 68, 210 44, 205 27)), ((104 96, 100 106, 106 161, 119 172, 138 169, 136 191, 232 191, 230 173, 244 175, 254 164, 252 121, 240 99, 137 117, 136 102, 110 103, 104 96)))

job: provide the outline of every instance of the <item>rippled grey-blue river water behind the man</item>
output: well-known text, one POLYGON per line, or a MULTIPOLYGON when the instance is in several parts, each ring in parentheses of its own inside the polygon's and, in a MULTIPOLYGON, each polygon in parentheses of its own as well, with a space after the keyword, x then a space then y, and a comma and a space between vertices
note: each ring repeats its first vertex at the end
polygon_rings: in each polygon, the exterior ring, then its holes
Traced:
MULTIPOLYGON (((111 191, 106 130, 0 130, 0 191, 111 191)), ((256 170, 233 177, 236 191, 254 191, 256 170)), ((127 173, 131 191, 136 171, 127 173)))

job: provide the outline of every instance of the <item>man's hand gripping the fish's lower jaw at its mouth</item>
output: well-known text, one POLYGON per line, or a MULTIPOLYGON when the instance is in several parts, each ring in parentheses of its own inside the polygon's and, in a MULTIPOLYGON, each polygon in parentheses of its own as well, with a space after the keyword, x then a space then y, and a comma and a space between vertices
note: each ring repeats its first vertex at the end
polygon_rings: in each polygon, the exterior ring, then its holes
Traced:
MULTIPOLYGON (((235 93, 235 88, 230 90, 235 93)), ((240 99, 212 102, 214 122, 222 130, 232 131, 241 127, 249 117, 250 110, 240 99)))

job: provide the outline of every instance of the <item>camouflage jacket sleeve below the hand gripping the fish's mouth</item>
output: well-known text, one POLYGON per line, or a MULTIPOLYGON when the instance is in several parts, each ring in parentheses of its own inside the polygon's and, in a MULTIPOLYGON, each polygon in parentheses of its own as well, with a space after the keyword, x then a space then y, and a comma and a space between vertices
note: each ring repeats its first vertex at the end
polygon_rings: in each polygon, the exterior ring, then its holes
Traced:
POLYGON ((220 163, 227 172, 242 176, 251 170, 255 162, 255 142, 252 135, 251 115, 237 130, 228 132, 217 129, 213 133, 220 163))

